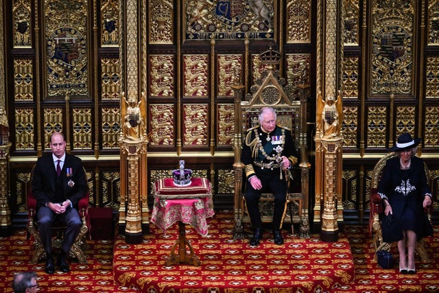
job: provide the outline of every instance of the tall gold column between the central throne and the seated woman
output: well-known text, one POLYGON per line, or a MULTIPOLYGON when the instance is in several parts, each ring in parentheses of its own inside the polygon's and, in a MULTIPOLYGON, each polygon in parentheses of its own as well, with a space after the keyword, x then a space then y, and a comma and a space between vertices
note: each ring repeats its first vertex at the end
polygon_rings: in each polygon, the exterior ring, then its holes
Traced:
POLYGON ((337 30, 340 5, 337 0, 318 1, 316 78, 316 198, 313 228, 322 228, 323 241, 338 239, 343 224, 342 206, 342 36, 337 30), (319 16, 320 14, 320 16, 319 16), (323 212, 321 213, 321 210, 323 212))

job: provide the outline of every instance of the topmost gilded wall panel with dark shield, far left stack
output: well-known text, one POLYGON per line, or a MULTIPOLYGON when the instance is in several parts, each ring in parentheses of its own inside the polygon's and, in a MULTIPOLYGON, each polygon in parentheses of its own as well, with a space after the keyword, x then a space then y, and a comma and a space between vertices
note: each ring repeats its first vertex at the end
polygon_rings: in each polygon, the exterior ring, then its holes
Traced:
POLYGON ((32 47, 32 1, 12 1, 14 47, 32 47))

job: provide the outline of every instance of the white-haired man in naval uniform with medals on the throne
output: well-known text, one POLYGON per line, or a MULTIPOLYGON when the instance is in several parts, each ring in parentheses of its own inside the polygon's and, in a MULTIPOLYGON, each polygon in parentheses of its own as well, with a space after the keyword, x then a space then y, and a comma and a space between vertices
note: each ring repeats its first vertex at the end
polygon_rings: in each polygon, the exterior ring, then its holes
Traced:
POLYGON ((259 113, 259 126, 251 128, 246 134, 241 161, 246 170, 246 205, 254 234, 251 246, 259 245, 263 229, 259 199, 262 192, 271 191, 274 195, 272 231, 274 243, 283 244, 281 220, 287 197, 287 181, 284 170, 289 170, 298 162, 294 141, 290 130, 276 126, 276 112, 264 107, 259 113))

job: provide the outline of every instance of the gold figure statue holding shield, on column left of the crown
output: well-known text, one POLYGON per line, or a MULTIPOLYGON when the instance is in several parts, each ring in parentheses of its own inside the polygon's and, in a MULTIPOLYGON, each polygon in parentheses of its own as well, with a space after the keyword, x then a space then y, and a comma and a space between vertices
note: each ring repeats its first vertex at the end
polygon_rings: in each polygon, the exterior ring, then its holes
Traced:
POLYGON ((123 118, 123 137, 130 140, 139 140, 146 137, 146 99, 145 93, 141 94, 141 99, 130 96, 128 101, 125 93, 121 93, 123 106, 121 107, 121 117, 123 118))

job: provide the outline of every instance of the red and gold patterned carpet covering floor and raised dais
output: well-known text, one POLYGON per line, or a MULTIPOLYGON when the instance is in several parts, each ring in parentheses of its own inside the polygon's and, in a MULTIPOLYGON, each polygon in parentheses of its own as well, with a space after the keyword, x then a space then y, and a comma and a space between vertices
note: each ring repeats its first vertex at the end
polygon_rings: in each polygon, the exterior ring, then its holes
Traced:
POLYGON ((284 231, 285 244, 276 246, 266 233, 260 248, 250 248, 246 239, 231 238, 232 213, 217 213, 209 225, 208 237, 187 226, 202 261, 199 267, 163 266, 177 239, 177 225, 167 235, 151 226, 142 244, 126 244, 121 238, 114 246, 88 241, 88 264, 72 261, 71 272, 53 275, 44 272, 43 262, 29 264, 32 242, 19 231, 0 239, 0 293, 12 292, 12 278, 23 270, 37 272, 38 292, 439 292, 437 226, 435 237, 425 241, 431 263, 418 261, 417 274, 402 275, 397 264, 383 270, 372 261, 366 226, 347 226, 334 243, 320 242, 318 235, 297 239, 284 231))

